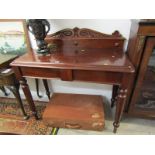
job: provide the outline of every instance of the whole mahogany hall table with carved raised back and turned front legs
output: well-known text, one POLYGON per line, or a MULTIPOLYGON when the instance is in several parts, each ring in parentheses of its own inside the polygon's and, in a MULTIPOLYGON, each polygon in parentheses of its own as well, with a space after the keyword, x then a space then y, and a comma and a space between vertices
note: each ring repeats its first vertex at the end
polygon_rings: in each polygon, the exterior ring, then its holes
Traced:
POLYGON ((11 63, 36 119, 37 111, 25 77, 110 84, 113 85, 112 101, 116 102, 113 123, 116 132, 134 73, 123 52, 124 38, 118 32, 106 35, 75 28, 49 35, 46 41, 56 44, 57 50, 46 56, 31 51, 11 63))

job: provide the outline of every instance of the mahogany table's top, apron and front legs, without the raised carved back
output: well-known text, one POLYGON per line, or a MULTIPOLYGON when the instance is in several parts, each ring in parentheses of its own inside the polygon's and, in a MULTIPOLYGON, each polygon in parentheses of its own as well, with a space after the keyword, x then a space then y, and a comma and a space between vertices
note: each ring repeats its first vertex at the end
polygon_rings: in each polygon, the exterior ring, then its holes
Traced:
POLYGON ((119 85, 114 121, 114 131, 116 132, 134 68, 125 54, 119 55, 114 52, 111 55, 108 52, 95 51, 85 56, 65 57, 61 54, 51 54, 38 57, 32 52, 16 59, 11 65, 36 118, 37 111, 25 77, 60 78, 64 81, 77 80, 119 85))

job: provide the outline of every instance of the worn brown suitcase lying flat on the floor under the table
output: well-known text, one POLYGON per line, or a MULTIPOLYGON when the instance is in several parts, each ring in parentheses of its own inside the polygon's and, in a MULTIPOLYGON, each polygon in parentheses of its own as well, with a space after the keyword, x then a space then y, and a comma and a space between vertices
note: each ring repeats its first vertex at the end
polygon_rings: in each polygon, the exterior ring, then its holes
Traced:
POLYGON ((102 131, 104 106, 99 95, 54 93, 43 122, 52 127, 102 131))

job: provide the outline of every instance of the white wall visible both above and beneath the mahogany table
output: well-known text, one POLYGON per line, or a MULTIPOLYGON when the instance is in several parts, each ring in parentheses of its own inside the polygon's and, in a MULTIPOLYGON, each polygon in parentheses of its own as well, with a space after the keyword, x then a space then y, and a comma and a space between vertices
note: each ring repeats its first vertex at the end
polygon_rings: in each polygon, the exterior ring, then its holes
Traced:
MULTIPOLYGON (((127 39, 128 42, 131 21, 130 20, 104 20, 104 19, 51 19, 49 20, 51 24, 50 33, 54 33, 58 30, 64 28, 90 28, 99 32, 111 34, 115 30, 119 30, 120 33, 127 39)), ((36 43, 32 34, 30 34, 30 39, 32 47, 36 48, 36 43)), ((33 94, 33 98, 38 100, 35 92, 34 80, 28 79, 28 83, 33 94)), ((44 88, 41 84, 43 100, 47 100, 44 88)), ((81 94, 99 94, 106 96, 107 100, 111 99, 111 86, 95 83, 85 83, 85 82, 65 82, 60 80, 51 80, 49 84, 52 84, 51 88, 54 92, 65 92, 65 93, 81 93, 81 94)), ((22 91, 21 91, 21 94, 22 91)), ((23 95, 22 95, 23 96, 23 95)))

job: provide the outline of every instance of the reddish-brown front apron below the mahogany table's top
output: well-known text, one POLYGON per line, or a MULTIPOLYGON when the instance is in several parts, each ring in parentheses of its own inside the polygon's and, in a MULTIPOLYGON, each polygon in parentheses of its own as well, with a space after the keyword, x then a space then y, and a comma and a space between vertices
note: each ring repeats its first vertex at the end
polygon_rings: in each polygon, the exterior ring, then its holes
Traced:
POLYGON ((20 67, 22 76, 32 78, 60 78, 63 81, 85 81, 105 84, 121 84, 123 74, 119 72, 50 69, 35 67, 20 67))

